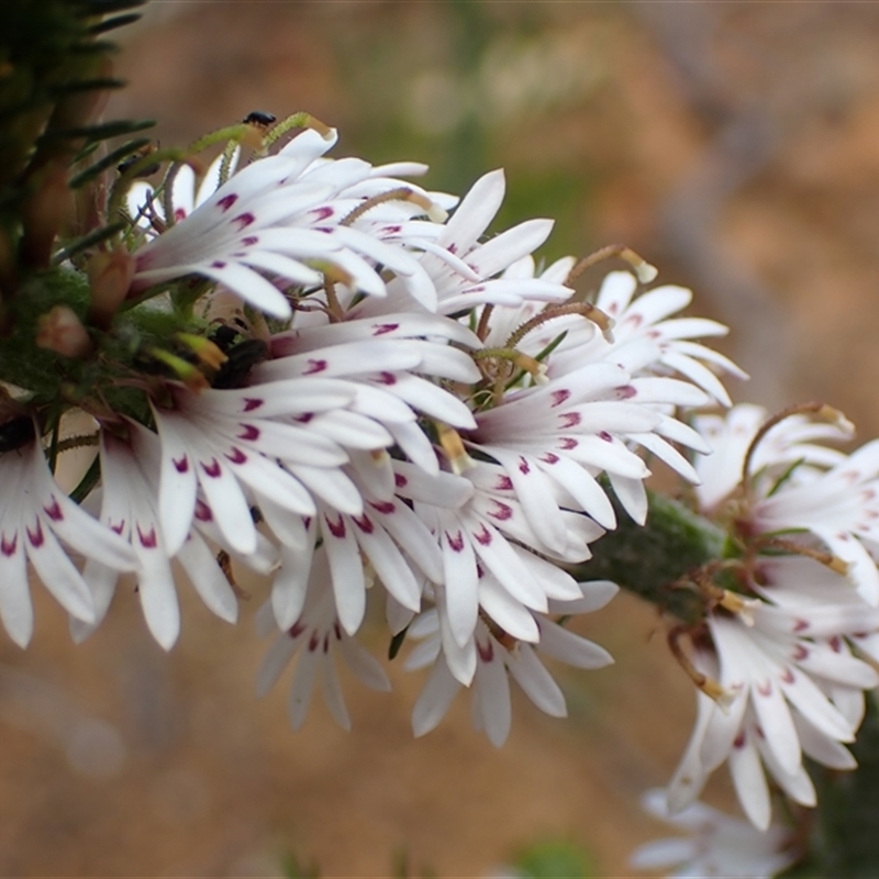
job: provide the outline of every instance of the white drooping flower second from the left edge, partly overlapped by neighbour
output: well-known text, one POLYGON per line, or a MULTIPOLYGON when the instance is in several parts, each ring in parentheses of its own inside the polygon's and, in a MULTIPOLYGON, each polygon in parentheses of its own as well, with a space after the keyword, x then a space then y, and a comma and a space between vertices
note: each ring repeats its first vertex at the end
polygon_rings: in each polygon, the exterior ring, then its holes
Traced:
MULTIPOLYGON (((101 521, 121 537, 131 542, 137 556, 137 594, 146 623, 156 641, 165 648, 177 641, 180 632, 180 609, 175 578, 158 518, 158 479, 160 448, 158 437, 145 427, 127 422, 129 438, 124 441, 101 433, 101 478, 103 499, 101 521)), ((210 509, 199 501, 193 527, 175 557, 204 603, 221 619, 234 623, 238 605, 213 553, 198 525, 210 523, 210 509)), ((270 566, 274 555, 265 546, 252 554, 252 564, 270 566), (267 565, 265 563, 268 563, 267 565)), ((93 623, 74 625, 77 639, 88 635, 107 613, 113 597, 119 571, 89 559, 82 576, 92 590, 96 605, 93 623)))

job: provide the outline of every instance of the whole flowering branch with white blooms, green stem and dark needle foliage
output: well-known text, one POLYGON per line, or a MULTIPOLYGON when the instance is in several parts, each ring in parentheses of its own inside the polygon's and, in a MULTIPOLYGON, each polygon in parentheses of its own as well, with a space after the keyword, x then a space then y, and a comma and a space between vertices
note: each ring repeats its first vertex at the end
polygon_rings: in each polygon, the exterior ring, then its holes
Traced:
MULTIPOLYGON (((52 56, 49 81, 35 77, 29 101, 5 105, 18 132, 0 171, 10 637, 25 646, 33 634, 31 572, 80 641, 130 571, 148 630, 170 649, 181 625, 173 563, 230 623, 245 566, 268 580, 259 617, 275 635, 258 689, 294 661, 294 727, 319 675, 351 726, 338 657, 371 689, 390 688, 357 639, 378 601, 391 653, 405 641, 405 667, 429 669, 413 732, 433 730, 467 690, 476 726, 500 746, 511 680, 564 716, 543 658, 613 661, 565 622, 622 586, 667 615, 698 688, 666 811, 699 813, 726 763, 747 832, 761 834, 755 875, 788 867, 805 846, 774 810, 809 830, 806 766, 856 766, 847 745, 879 685, 879 443, 852 455, 827 446, 850 425, 816 404, 701 414, 732 405, 722 378, 745 377, 704 344, 726 327, 680 316, 689 290, 645 289, 656 270, 627 247, 543 267, 534 253, 550 221, 489 237, 501 171, 458 200, 411 182, 426 170, 416 163, 331 157, 335 131, 308 113, 276 124, 254 112, 188 149, 105 147, 145 127, 98 121, 101 92, 118 84, 76 60, 84 45, 105 55, 105 4, 9 5, 10 33, 37 48, 37 19, 73 34, 73 73, 52 56), (635 274, 609 272, 587 301, 570 283, 609 256, 635 274), (64 435, 77 412, 93 431, 64 435), (68 496, 55 471, 88 446, 97 457, 68 496), (692 509, 647 491, 647 460, 688 486, 692 509), (79 504, 99 485, 96 516, 79 504)), ((40 73, 41 57, 22 64, 40 73)), ((0 88, 0 109, 9 99, 0 88)), ((869 714, 861 739, 877 734, 869 714)), ((871 750, 854 753, 872 767, 871 750)), ((869 836, 872 772, 821 778, 822 869, 879 864, 853 842, 869 836)), ((741 832, 714 813, 704 825, 724 845, 741 832)), ((706 872, 735 863, 700 852, 706 872)))

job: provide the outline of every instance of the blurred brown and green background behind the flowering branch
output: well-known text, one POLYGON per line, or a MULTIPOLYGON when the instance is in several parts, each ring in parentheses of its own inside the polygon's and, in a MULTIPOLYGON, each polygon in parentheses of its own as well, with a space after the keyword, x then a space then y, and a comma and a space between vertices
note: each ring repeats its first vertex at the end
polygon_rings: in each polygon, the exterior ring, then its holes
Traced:
MULTIPOLYGON (((733 327, 754 376, 738 400, 821 398, 879 433, 879 5, 846 3, 154 2, 123 33, 115 115, 186 143, 252 110, 309 110, 335 155, 426 160, 463 192, 503 166, 502 229, 557 219, 552 259, 622 241, 733 327)), ((600 272, 585 279, 594 285, 600 272)), ((230 628, 181 586, 163 655, 135 598, 75 648, 38 596, 34 644, 0 642, 0 872, 269 876, 288 853, 324 876, 478 876, 568 838, 627 875, 661 828, 692 694, 649 609, 621 597, 580 631, 617 659, 559 672, 571 719, 518 700, 508 745, 461 697, 412 741, 418 676, 390 696, 345 680, 354 732, 315 703, 300 733, 286 679, 253 697, 263 588, 230 628)), ((386 645, 376 635, 370 645, 386 645)), ((399 666, 399 663, 397 664, 399 666)), ((344 676, 344 671, 343 671, 344 676)), ((723 782, 712 788, 716 802, 723 782)))

